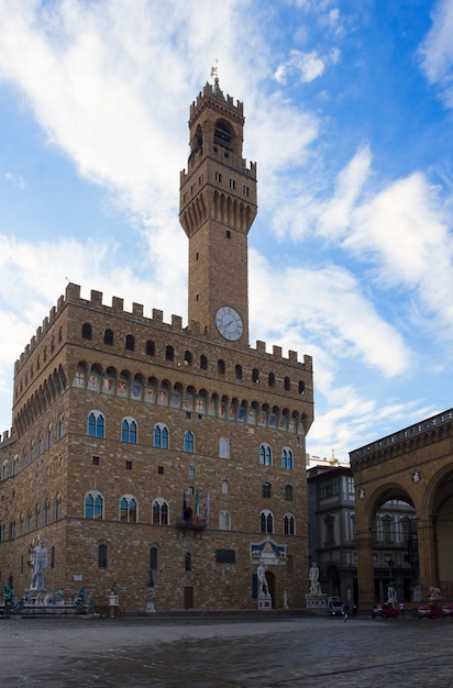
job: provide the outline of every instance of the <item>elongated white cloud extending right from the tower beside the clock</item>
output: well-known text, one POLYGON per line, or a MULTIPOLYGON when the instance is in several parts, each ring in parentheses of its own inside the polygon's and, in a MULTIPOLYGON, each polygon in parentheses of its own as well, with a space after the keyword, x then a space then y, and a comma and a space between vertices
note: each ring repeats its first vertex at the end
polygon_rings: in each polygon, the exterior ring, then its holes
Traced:
POLYGON ((411 354, 401 335, 378 315, 351 273, 335 266, 317 271, 276 269, 255 252, 251 252, 251 265, 258 339, 275 337, 274 323, 278 322, 283 341, 297 342, 306 333, 306 339, 336 359, 362 358, 385 376, 409 368, 411 354))

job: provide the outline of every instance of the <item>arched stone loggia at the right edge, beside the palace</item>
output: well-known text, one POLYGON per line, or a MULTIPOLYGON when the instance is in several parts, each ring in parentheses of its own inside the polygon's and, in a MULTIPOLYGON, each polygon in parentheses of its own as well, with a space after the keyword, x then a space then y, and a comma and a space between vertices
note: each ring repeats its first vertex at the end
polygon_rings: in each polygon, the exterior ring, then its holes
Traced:
MULTIPOLYGON (((440 588, 443 599, 453 595, 453 410, 417 423, 351 452, 355 481, 355 523, 358 598, 362 608, 372 606, 385 589, 384 547, 379 582, 375 584, 375 517, 389 500, 401 500, 407 512, 408 576, 400 576, 400 593, 413 602, 424 601, 440 588), (401 579, 402 578, 402 579, 401 579), (408 590, 409 585, 409 590, 408 590)), ((394 502, 395 503, 395 502, 394 502)), ((383 518, 385 514, 380 514, 383 518)), ((390 521, 382 521, 380 532, 390 521)), ((401 568, 404 573, 404 567, 401 568)))

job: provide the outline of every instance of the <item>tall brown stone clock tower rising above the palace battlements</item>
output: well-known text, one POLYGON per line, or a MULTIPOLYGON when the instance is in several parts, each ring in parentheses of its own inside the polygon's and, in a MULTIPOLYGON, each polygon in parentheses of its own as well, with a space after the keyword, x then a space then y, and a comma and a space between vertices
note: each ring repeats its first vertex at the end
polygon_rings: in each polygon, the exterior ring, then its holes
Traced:
POLYGON ((223 95, 216 75, 190 106, 179 221, 189 237, 189 322, 198 321, 210 340, 246 347, 256 165, 242 157, 243 129, 243 103, 223 95))

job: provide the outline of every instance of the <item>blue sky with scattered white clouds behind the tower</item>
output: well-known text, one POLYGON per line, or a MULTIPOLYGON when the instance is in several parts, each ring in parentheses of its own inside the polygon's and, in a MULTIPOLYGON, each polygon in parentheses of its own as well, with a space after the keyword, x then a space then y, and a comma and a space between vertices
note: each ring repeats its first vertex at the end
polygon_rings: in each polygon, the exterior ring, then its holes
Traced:
POLYGON ((68 280, 187 322, 179 170, 216 59, 258 169, 251 344, 313 356, 309 453, 453 407, 452 35, 453 0, 0 0, 0 432, 68 280))

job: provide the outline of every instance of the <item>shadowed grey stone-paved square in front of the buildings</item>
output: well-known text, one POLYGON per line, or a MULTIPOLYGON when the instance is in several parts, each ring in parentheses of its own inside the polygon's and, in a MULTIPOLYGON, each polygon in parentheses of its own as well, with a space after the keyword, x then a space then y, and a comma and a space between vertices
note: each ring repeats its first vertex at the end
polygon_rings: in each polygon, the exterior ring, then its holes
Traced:
POLYGON ((0 685, 453 685, 453 620, 0 619, 0 685))

